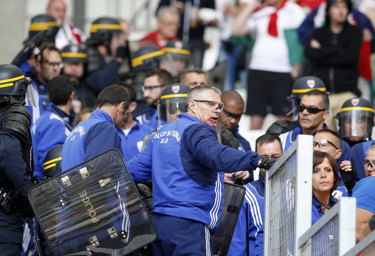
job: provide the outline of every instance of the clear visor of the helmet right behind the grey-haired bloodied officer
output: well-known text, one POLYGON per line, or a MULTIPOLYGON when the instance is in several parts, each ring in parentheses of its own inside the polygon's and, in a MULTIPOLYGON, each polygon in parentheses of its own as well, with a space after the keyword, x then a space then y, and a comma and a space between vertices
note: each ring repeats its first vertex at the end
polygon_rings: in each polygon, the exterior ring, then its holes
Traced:
POLYGON ((163 125, 178 120, 178 115, 186 113, 186 97, 161 99, 157 102, 157 124, 163 125))

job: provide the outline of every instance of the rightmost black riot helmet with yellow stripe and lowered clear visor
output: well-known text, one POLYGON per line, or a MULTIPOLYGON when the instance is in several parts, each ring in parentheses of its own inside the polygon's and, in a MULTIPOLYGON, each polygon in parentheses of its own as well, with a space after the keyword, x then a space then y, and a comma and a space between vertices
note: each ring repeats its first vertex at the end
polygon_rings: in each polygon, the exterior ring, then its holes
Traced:
POLYGON ((336 115, 337 131, 349 144, 371 139, 374 126, 374 107, 362 98, 348 99, 336 115))

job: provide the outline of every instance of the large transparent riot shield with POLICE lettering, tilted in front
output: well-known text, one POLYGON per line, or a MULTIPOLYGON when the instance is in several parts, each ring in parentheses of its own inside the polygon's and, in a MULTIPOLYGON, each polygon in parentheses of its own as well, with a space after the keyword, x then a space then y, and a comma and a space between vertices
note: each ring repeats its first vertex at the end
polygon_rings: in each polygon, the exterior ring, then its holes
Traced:
POLYGON ((157 238, 115 149, 32 187, 28 198, 55 256, 126 255, 157 238))

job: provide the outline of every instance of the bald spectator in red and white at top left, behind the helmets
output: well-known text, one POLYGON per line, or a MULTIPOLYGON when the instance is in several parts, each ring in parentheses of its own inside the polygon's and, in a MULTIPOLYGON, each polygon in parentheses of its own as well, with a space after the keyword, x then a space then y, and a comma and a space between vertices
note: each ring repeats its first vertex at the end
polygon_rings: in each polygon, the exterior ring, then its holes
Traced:
POLYGON ((55 45, 62 49, 68 44, 79 45, 86 41, 86 36, 79 28, 73 27, 65 20, 66 4, 63 0, 50 0, 48 2, 46 13, 54 17, 57 22, 61 22, 61 27, 55 37, 55 45))

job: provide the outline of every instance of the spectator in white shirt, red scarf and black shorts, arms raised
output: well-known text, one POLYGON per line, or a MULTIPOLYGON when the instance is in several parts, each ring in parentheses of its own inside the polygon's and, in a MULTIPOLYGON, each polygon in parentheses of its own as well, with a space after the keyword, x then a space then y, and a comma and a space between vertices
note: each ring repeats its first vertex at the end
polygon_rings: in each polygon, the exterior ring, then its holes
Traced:
POLYGON ((299 27, 305 12, 293 1, 254 0, 236 17, 232 34, 251 33, 255 38, 248 76, 248 104, 251 129, 261 129, 264 116, 271 112, 286 118, 289 111, 287 96, 293 78, 298 76, 299 64, 292 66, 285 30, 299 27))

